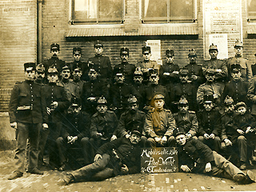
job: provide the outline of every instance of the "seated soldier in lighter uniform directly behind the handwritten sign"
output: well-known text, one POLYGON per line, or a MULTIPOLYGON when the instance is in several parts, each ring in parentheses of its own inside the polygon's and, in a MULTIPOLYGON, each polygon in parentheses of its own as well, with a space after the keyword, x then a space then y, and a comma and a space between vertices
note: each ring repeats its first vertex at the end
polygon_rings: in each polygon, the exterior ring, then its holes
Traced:
POLYGON ((147 137, 147 146, 171 146, 171 138, 176 129, 175 119, 170 110, 163 108, 165 105, 162 94, 154 95, 154 108, 146 114, 144 130, 147 137), (160 120, 161 119, 161 120, 160 120))

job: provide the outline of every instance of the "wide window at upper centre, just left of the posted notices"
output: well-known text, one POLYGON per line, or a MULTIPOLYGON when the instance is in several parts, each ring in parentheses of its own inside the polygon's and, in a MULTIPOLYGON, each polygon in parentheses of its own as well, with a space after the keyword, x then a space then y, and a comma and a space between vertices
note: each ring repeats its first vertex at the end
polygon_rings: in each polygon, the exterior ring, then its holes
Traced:
POLYGON ((192 22, 195 12, 196 0, 141 0, 144 23, 192 22))

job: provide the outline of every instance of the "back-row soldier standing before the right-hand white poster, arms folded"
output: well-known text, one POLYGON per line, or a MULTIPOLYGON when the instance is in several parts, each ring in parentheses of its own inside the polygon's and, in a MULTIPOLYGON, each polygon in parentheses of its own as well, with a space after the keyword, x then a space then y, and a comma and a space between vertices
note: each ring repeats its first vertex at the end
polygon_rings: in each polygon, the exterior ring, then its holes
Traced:
POLYGON ((218 82, 223 88, 224 83, 228 77, 228 70, 226 66, 226 61, 220 60, 218 56, 218 48, 212 43, 209 48, 210 60, 202 64, 202 74, 206 75, 208 69, 213 69, 215 71, 215 82, 218 82))

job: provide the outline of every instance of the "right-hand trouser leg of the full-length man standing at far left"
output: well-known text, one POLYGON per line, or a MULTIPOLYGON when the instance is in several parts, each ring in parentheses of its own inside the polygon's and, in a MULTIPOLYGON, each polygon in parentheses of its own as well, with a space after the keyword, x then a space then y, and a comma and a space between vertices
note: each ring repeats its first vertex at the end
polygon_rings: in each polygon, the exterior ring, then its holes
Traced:
POLYGON ((42 123, 30 124, 29 127, 29 166, 28 170, 33 170, 38 167, 38 143, 39 133, 42 128, 42 123))

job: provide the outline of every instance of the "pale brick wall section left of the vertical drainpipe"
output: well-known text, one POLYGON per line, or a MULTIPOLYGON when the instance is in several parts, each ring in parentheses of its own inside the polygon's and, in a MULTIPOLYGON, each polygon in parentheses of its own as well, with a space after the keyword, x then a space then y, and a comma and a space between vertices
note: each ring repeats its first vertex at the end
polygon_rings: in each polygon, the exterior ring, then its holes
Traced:
POLYGON ((23 63, 36 61, 36 7, 35 0, 0 1, 0 111, 24 77, 23 63))

